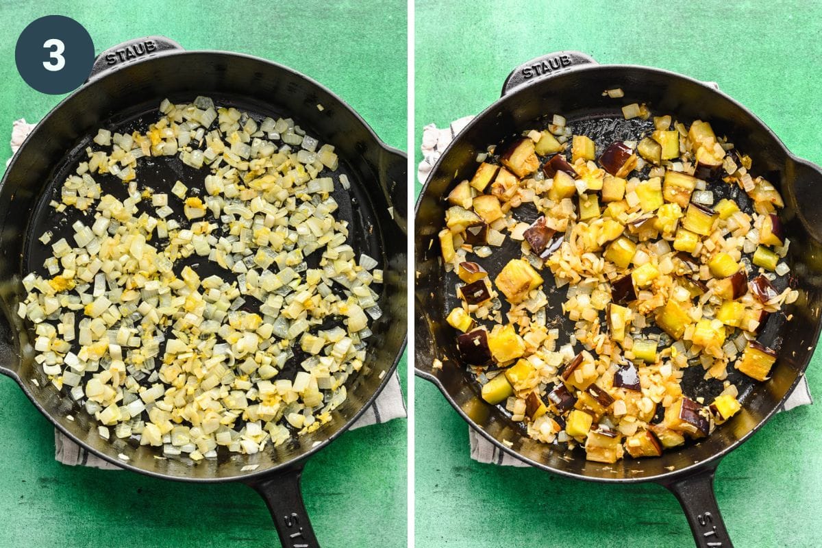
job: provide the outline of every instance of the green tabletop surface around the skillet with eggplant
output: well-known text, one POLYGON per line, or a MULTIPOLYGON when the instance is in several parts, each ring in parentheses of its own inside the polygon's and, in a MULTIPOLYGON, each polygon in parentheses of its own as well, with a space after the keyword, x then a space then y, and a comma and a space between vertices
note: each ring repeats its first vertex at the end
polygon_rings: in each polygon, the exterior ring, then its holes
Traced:
MULTIPOLYGON (((822 163, 819 2, 418 1, 416 126, 480 112, 509 71, 577 49, 602 63, 717 81, 794 154, 822 163)), ((417 136, 416 154, 421 159, 417 136)), ((822 354, 808 369, 822 396, 822 354)), ((415 384, 419 548, 693 546, 677 501, 655 485, 603 486, 469 458, 464 421, 415 384)), ((735 546, 822 546, 822 405, 797 408, 719 467, 717 496, 735 546)))

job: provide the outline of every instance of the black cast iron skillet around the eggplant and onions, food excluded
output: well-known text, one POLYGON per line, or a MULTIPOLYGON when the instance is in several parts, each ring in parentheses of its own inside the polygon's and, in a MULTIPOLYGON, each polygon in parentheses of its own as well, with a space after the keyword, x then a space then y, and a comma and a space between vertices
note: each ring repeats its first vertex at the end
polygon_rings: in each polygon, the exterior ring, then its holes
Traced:
MULTIPOLYGON (((713 495, 713 476, 719 461, 757 431, 801 379, 820 333, 822 309, 822 171, 788 152, 777 136, 752 113, 727 95, 686 76, 648 67, 599 66, 583 53, 552 53, 518 67, 506 80, 502 98, 476 117, 456 136, 428 177, 416 210, 415 286, 417 375, 430 380, 473 428, 502 451, 526 463, 566 477, 607 483, 655 481, 671 490, 685 510, 697 546, 732 546, 713 495), (603 97, 604 90, 621 88, 624 99, 603 97), (743 408, 699 444, 667 451, 661 458, 626 458, 612 465, 593 463, 580 451, 549 446, 529 439, 505 412, 479 397, 478 385, 459 360, 454 329, 446 314, 454 301, 453 274, 444 274, 438 233, 444 224, 445 196, 450 187, 469 178, 476 156, 487 145, 519 135, 526 129, 542 129, 554 113, 566 116, 571 127, 593 135, 598 150, 613 140, 635 139, 640 121, 626 122, 620 108, 634 102, 649 104, 653 113, 672 113, 683 122, 709 120, 718 135, 727 135, 753 158, 754 173, 778 185, 786 202, 781 217, 787 223, 791 248, 790 283, 800 292, 784 315, 773 314, 760 340, 778 348, 773 377, 764 383, 741 385, 743 408), (799 197, 801 196, 801 200, 799 197), (432 368, 435 359, 443 362, 432 368), (506 440, 512 443, 502 443, 506 440)), ((520 208, 521 209, 521 208, 520 208)), ((535 212, 532 212, 535 216, 535 212)), ((527 217, 529 212, 517 216, 527 217)), ((529 220, 529 219, 523 219, 529 220)), ((505 246, 504 246, 505 247, 505 246)), ((519 249, 499 251, 488 258, 492 275, 519 249)), ((473 259, 472 259, 473 260, 473 259)), ((783 282, 784 284, 784 282, 783 282)), ((546 284, 546 289, 550 284, 546 284)), ((784 287, 784 285, 783 285, 784 287)), ((565 291, 546 291, 549 318, 562 319, 565 291)), ((568 332, 567 320, 566 333, 568 332)), ((567 336, 567 335, 565 335, 567 336)), ((560 343, 566 340, 560 339, 560 343)), ((701 380, 701 367, 689 368, 683 382, 686 394, 704 395, 707 401, 721 386, 701 380), (693 370, 693 371, 691 371, 693 370), (697 371, 700 370, 700 371, 697 371), (694 375, 695 374, 695 375, 694 375)), ((738 375, 738 374, 737 374, 738 375)), ((733 380, 737 380, 736 378, 733 380)))

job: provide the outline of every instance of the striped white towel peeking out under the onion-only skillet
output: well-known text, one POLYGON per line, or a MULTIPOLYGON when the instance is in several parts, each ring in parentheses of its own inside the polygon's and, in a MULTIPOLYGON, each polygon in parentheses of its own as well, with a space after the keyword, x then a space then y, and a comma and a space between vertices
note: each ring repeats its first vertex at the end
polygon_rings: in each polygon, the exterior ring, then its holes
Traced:
MULTIPOLYGON (((23 144, 25 137, 28 136, 34 128, 35 124, 25 122, 24 119, 14 122, 10 143, 12 146, 12 154, 17 152, 23 144)), ((11 159, 9 159, 9 162, 10 161, 11 159)), ((6 165, 8 165, 8 162, 6 165)), ((359 417, 358 421, 356 421, 351 428, 361 428, 363 426, 370 426, 406 416, 407 412, 402 389, 399 386, 399 377, 395 373, 391 376, 386 384, 386 388, 382 390, 372 406, 363 413, 362 417, 359 417)), ((54 458, 57 459, 58 462, 67 464, 68 466, 88 466, 102 468, 104 470, 121 469, 115 464, 109 463, 94 454, 90 454, 56 429, 54 430, 54 458)))

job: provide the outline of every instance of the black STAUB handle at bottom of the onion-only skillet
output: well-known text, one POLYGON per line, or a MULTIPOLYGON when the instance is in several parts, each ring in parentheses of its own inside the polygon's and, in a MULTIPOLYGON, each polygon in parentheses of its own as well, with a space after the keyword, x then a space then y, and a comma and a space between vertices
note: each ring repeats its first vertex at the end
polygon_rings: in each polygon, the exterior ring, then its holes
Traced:
POLYGON ((248 484, 266 500, 283 548, 320 546, 308 519, 305 504, 302 502, 302 466, 302 463, 299 463, 282 472, 276 472, 273 476, 266 476, 261 481, 252 481, 248 484))

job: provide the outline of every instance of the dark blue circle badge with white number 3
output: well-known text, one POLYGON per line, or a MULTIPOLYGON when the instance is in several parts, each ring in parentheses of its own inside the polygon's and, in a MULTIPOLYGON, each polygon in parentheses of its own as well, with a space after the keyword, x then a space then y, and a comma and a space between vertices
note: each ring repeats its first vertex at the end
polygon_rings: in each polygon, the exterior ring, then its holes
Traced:
POLYGON ((89 77, 95 44, 83 25, 66 16, 45 16, 17 39, 17 71, 41 93, 68 93, 89 77))

